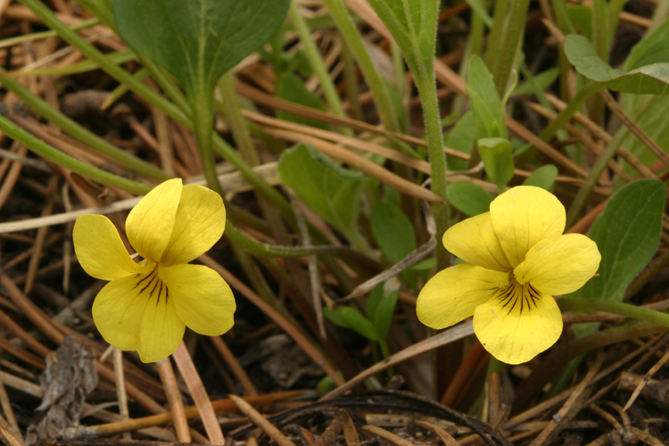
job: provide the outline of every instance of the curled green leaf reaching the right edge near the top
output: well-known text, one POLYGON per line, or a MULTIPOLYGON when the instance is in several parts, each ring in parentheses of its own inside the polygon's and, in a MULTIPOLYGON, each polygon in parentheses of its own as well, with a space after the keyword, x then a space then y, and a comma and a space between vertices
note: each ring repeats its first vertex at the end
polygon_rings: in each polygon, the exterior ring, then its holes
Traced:
POLYGON ((625 73, 599 59, 590 41, 577 34, 566 37, 565 54, 578 72, 602 87, 636 95, 669 93, 669 63, 646 65, 625 73))

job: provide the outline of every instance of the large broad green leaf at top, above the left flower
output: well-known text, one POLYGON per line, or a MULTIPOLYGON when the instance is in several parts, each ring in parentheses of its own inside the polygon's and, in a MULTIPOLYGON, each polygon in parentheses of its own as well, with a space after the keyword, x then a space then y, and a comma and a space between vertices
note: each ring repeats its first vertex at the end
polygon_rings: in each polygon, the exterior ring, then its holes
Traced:
POLYGON ((172 73, 188 95, 219 78, 284 21, 290 0, 114 0, 120 36, 172 73))

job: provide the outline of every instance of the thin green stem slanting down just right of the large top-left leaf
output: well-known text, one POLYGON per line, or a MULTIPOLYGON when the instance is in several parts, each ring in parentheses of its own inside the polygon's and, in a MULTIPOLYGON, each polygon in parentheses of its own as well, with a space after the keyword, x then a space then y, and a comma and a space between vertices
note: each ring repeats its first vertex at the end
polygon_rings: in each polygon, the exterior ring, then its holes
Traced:
MULTIPOLYGON (((291 21, 293 21, 293 28, 300 37, 302 45, 304 45, 304 51, 307 54, 311 68, 314 70, 320 81, 320 87, 323 88, 323 95, 326 96, 327 103, 330 104, 330 108, 332 108, 332 111, 335 112, 337 116, 346 117, 346 112, 343 111, 342 100, 337 93, 332 78, 330 78, 330 73, 327 71, 325 62, 323 62, 323 57, 311 37, 311 30, 309 29, 309 26, 307 26, 307 21, 301 16, 300 8, 298 8, 295 0, 291 1, 289 13, 291 21)), ((353 132, 350 128, 343 128, 343 133, 348 136, 353 136, 353 132)))

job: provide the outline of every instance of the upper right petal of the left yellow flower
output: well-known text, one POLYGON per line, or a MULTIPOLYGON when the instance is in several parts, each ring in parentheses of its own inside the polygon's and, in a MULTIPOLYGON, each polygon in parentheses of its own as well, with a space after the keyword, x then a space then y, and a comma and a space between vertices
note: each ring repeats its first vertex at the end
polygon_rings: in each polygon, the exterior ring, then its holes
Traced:
POLYGON ((174 229, 161 263, 188 263, 219 241, 226 228, 226 208, 220 195, 203 186, 181 191, 174 229))

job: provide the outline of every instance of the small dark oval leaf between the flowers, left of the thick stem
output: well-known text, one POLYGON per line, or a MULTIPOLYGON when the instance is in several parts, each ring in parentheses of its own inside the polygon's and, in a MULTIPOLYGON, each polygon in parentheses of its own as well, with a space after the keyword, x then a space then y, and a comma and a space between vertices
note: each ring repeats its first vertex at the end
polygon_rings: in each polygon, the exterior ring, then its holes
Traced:
POLYGON ((392 263, 404 259, 416 249, 414 227, 396 205, 376 202, 369 219, 376 244, 392 263))

